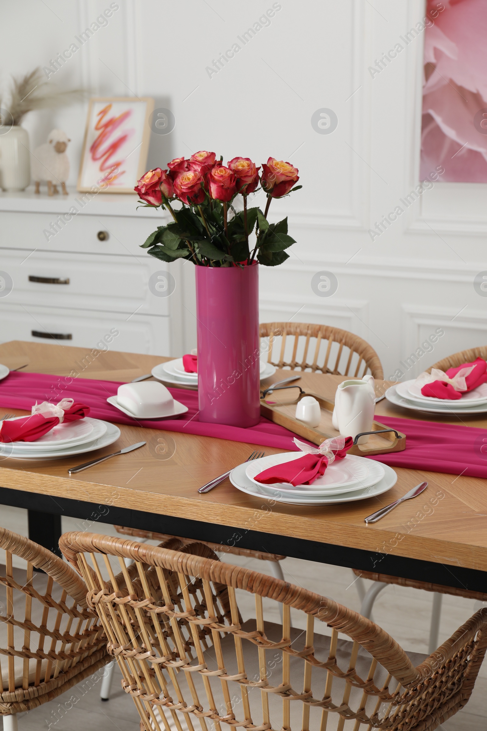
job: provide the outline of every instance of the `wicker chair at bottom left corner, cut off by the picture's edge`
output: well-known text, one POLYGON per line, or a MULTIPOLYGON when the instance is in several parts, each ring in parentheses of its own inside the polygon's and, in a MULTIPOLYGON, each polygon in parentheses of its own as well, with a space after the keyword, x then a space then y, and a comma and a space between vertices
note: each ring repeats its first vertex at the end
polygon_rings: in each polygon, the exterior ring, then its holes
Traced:
POLYGON ((0 715, 4 731, 17 731, 17 713, 53 700, 112 658, 72 567, 4 528, 0 548, 0 715), (13 569, 12 556, 27 561, 27 569, 13 569), (34 567, 44 573, 34 574, 34 567))

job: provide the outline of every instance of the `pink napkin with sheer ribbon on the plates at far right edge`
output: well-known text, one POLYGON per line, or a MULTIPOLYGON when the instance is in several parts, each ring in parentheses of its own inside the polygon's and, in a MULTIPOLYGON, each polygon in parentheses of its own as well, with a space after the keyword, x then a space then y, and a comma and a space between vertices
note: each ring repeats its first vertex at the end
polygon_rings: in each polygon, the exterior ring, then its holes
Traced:
POLYGON ((485 383, 486 371, 486 361, 477 358, 473 363, 463 363, 457 368, 448 368, 446 372, 432 368, 431 374, 422 373, 415 383, 421 387, 423 396, 456 401, 461 398, 462 393, 468 393, 485 383))

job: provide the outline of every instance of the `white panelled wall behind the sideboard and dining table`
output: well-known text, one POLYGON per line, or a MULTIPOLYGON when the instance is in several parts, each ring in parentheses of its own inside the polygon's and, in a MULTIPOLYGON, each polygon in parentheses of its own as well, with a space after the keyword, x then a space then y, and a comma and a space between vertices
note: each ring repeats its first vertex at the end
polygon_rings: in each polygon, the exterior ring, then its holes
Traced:
MULTIPOLYGON (((437 327, 445 336, 421 366, 486 342, 487 300, 473 287, 487 270, 486 186, 436 183, 387 232, 373 242, 368 234, 418 182, 423 39, 373 79, 368 67, 423 16, 423 0, 280 0, 270 26, 212 77, 205 70, 212 59, 239 42, 272 0, 118 4, 109 25, 51 80, 93 94, 150 95, 156 107, 169 107, 175 129, 153 135, 147 167, 201 148, 225 162, 237 154, 265 162, 270 154, 299 167, 302 191, 272 202, 275 216, 288 213, 298 243, 285 265, 261 268, 262 321, 353 330, 375 347, 386 374, 437 327), (311 126, 321 107, 338 116, 331 135, 311 126), (338 279, 330 298, 311 289, 321 270, 338 279)), ((44 66, 109 6, 1 4, 4 72, 44 66)), ((83 104, 26 120, 33 145, 53 126, 72 137, 72 183, 84 124, 83 104)), ((191 291, 193 271, 183 271, 191 291)), ((193 315, 185 321, 189 345, 193 315)))

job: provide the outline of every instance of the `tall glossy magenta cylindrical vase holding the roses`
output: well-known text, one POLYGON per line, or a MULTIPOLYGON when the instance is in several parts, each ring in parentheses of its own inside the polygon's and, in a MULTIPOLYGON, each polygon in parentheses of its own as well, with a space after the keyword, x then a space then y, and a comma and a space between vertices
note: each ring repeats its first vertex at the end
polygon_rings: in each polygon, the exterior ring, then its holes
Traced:
POLYGON ((258 264, 196 267, 199 421, 260 419, 258 264))

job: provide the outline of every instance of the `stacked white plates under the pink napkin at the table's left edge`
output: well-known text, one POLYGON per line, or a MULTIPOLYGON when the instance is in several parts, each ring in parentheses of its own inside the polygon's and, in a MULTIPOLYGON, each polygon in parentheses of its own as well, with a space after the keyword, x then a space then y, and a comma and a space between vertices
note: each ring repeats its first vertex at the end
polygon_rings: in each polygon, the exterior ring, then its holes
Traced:
POLYGON ((7 458, 61 459, 107 447, 116 442, 119 436, 118 426, 107 421, 85 417, 77 421, 58 424, 35 442, 0 443, 0 460, 7 458))

